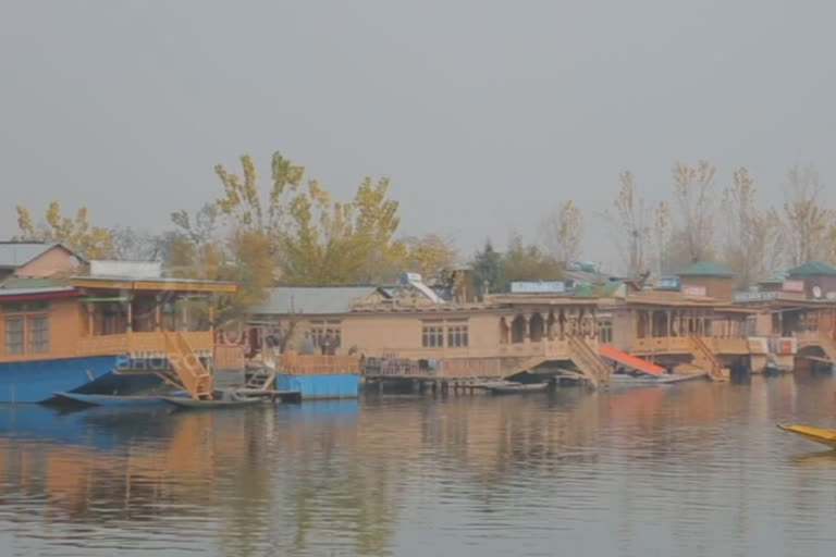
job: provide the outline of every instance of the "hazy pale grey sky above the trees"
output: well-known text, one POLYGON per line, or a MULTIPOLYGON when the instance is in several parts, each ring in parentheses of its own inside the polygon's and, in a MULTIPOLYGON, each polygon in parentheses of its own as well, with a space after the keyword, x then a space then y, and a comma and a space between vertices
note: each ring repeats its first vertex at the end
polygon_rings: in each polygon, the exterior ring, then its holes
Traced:
POLYGON ((674 161, 836 180, 832 1, 0 0, 0 236, 16 203, 161 230, 217 162, 281 150, 339 197, 389 175, 403 232, 465 253, 595 212, 674 161))

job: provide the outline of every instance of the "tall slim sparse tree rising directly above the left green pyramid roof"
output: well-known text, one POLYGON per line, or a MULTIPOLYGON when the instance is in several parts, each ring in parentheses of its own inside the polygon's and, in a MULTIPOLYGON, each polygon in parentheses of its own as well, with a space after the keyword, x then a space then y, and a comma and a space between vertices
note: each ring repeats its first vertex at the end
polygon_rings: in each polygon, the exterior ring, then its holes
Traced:
POLYGON ((674 165, 674 199, 679 208, 683 238, 692 261, 708 259, 714 239, 716 169, 702 160, 697 166, 674 165))

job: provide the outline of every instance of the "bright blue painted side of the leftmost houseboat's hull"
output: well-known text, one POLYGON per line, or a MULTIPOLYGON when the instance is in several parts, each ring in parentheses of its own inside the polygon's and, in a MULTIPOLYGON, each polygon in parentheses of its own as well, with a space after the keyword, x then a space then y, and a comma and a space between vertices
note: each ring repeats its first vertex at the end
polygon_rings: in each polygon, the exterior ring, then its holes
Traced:
POLYGON ((110 373, 118 356, 0 363, 0 403, 42 403, 110 373))

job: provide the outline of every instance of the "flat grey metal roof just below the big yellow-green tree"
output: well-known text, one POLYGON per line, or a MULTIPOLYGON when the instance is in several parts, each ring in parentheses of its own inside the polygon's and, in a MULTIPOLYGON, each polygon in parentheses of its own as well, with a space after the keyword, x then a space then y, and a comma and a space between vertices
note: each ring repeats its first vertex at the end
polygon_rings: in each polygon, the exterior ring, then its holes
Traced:
POLYGON ((368 298, 377 286, 279 286, 270 288, 268 299, 253 311, 260 314, 346 313, 352 301, 368 298))

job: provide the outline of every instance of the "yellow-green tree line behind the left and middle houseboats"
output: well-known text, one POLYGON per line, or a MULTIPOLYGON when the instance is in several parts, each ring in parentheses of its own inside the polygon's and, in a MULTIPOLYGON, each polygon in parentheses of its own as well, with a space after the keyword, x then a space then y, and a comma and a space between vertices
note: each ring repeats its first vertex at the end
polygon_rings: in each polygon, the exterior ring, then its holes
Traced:
POLYGON ((94 226, 86 207, 65 215, 53 201, 38 222, 17 207, 13 239, 61 242, 89 259, 159 260, 174 276, 234 281, 239 292, 229 314, 262 301, 278 284, 388 283, 404 270, 431 275, 456 261, 446 238, 397 235, 399 206, 386 177, 366 177, 352 199, 337 201, 280 152, 265 183, 247 154, 241 171, 218 164, 214 173, 218 197, 195 212, 172 212, 172 227, 159 235, 94 226))

